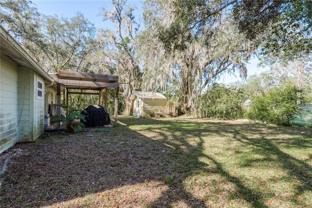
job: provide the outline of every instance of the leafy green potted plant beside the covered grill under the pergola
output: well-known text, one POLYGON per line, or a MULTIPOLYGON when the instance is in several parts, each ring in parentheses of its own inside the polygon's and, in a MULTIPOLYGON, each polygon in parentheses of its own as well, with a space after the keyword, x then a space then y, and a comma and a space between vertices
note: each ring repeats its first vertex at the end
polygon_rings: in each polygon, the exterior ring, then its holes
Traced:
POLYGON ((87 113, 85 110, 80 110, 80 109, 76 109, 73 108, 71 106, 63 106, 63 105, 59 105, 60 107, 64 108, 66 110, 66 117, 65 116, 59 116, 59 115, 53 115, 53 122, 63 122, 66 123, 67 126, 67 131, 70 133, 74 133, 83 130, 83 124, 82 123, 76 123, 76 120, 80 121, 86 121, 85 119, 85 115, 82 114, 81 112, 87 113))

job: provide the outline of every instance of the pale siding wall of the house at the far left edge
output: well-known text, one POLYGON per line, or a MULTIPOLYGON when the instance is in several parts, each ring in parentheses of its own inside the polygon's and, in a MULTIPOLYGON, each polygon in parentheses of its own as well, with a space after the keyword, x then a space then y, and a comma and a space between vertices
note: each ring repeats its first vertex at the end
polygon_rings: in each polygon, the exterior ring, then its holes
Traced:
POLYGON ((18 70, 7 57, 0 62, 0 152, 17 142, 18 70))

